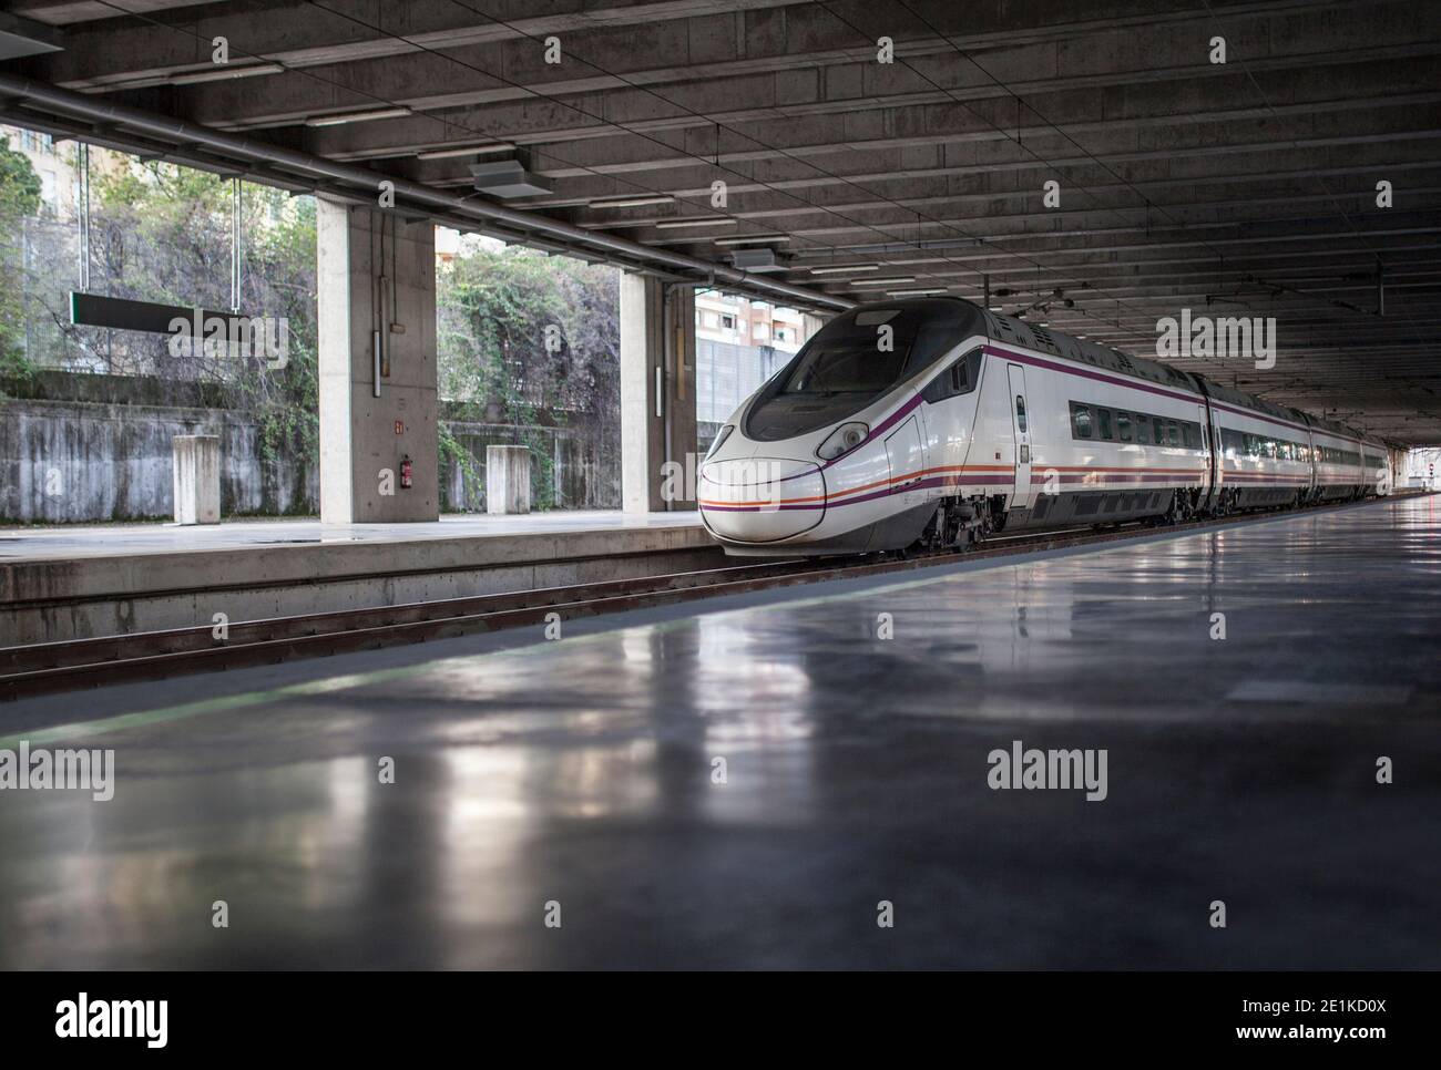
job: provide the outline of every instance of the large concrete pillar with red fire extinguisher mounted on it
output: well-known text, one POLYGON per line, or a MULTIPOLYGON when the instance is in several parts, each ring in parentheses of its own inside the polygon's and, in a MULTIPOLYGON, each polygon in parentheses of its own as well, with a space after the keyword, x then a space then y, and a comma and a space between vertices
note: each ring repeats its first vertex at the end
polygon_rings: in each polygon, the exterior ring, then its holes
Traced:
POLYGON ((438 520, 435 228, 323 197, 316 213, 320 518, 438 520))

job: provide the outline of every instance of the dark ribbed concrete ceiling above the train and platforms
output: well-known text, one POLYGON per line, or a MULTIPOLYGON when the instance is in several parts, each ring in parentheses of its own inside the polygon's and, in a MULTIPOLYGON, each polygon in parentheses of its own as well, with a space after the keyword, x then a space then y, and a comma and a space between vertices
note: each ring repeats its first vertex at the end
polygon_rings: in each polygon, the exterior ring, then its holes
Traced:
POLYGON ((716 239, 784 235, 772 243, 788 271, 768 278, 852 300, 980 301, 989 287, 1007 313, 1147 354, 1156 321, 1182 308, 1275 317, 1274 369, 1176 363, 1399 442, 1441 442, 1438 3, 12 10, 59 27, 65 50, 6 72, 452 192, 477 157, 422 153, 507 143, 553 186, 512 207, 718 264, 735 246, 716 239), (233 68, 268 73, 176 85, 213 71, 216 36, 233 68), (1218 36, 1225 63, 1210 62, 1218 36), (878 62, 879 37, 892 63, 878 62), (346 112, 391 117, 307 124, 346 112), (1043 203, 1052 180, 1056 209, 1043 203), (1389 209, 1378 181, 1392 184, 1389 209), (673 200, 595 203, 647 196, 673 200), (663 226, 706 216, 726 219, 663 226))

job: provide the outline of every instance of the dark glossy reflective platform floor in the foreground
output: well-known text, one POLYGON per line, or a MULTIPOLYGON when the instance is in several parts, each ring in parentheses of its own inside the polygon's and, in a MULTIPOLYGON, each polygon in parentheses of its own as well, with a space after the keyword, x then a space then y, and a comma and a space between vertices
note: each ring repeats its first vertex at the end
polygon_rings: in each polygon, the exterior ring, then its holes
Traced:
POLYGON ((0 965, 1441 968, 1438 534, 1386 501, 0 707, 117 766, 0 792, 0 965), (1105 798, 991 789, 1014 740, 1105 750, 1105 798))

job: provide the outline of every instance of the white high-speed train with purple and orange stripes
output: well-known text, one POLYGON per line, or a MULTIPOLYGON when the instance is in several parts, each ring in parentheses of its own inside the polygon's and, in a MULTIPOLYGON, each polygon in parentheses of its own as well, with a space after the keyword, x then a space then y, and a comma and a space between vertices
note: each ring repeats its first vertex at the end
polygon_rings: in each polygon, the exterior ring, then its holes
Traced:
POLYGON ((991 531, 1343 501, 1383 444, 960 298, 852 308, 716 433, 697 498, 731 554, 964 547, 991 531))

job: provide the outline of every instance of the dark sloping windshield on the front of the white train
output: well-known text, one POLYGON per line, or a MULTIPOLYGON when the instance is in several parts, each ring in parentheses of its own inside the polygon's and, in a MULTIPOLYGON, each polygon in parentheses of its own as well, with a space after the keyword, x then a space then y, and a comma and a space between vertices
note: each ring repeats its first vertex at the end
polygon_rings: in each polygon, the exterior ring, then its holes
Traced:
POLYGON ((746 435, 804 435, 859 412, 961 341, 965 313, 958 301, 901 301, 837 315, 757 399, 746 435))

